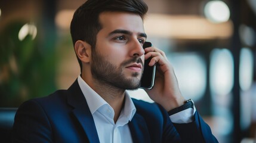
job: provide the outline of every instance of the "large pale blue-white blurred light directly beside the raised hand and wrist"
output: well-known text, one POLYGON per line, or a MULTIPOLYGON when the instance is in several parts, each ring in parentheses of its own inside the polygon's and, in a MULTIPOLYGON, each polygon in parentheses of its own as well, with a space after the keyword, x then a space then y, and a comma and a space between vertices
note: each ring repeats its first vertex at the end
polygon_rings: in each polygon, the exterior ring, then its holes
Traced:
POLYGON ((197 52, 173 53, 168 56, 183 96, 200 100, 206 89, 206 63, 197 52))

